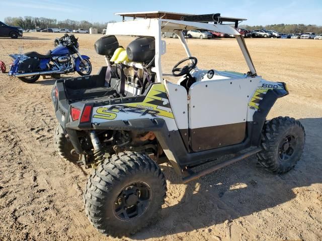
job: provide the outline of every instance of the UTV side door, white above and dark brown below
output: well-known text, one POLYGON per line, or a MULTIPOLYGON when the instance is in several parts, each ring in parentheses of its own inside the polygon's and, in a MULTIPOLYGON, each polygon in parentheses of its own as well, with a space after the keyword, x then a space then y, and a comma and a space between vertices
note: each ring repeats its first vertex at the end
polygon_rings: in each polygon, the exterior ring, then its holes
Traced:
POLYGON ((189 130, 193 151, 243 142, 251 94, 260 78, 199 81, 189 90, 189 130))

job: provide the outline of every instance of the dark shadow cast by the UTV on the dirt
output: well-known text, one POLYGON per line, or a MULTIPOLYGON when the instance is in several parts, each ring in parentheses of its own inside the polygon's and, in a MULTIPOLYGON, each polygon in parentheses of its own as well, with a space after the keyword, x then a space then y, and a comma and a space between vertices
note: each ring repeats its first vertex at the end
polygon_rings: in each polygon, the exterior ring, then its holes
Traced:
MULTIPOLYGON (((322 118, 299 121, 306 131, 306 144, 294 170, 274 175, 259 166, 256 157, 251 157, 208 174, 188 183, 179 203, 163 208, 156 223, 131 238, 163 237, 223 223, 290 201, 296 197, 293 188, 322 183, 322 158, 317 153, 322 136, 322 118)), ((171 186, 181 182, 172 168, 164 166, 163 171, 171 186)), ((168 189, 174 188, 169 186, 168 189)), ((178 199, 178 196, 174 198, 178 199)), ((168 196, 166 202, 171 201, 171 196, 168 196)))

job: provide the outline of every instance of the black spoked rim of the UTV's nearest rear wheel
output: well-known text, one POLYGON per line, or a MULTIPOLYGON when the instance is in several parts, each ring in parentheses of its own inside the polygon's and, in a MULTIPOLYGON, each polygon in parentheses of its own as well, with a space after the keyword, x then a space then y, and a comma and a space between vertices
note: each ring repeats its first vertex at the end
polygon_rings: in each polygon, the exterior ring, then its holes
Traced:
POLYGON ((149 185, 134 182, 124 187, 114 201, 114 215, 122 221, 130 221, 141 216, 152 198, 149 185))

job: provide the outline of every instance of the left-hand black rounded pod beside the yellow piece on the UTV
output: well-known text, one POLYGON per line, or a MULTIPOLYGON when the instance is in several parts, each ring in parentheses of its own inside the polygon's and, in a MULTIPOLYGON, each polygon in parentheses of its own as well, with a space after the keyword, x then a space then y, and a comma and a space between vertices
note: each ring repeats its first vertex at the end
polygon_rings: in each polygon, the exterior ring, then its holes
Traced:
POLYGON ((114 35, 108 35, 96 41, 94 47, 99 55, 106 55, 111 58, 114 51, 119 47, 119 42, 114 35))

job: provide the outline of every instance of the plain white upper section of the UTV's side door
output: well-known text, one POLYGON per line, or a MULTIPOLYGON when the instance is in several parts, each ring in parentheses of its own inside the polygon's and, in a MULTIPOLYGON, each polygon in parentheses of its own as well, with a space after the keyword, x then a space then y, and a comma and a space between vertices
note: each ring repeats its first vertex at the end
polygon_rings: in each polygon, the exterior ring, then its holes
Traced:
POLYGON ((189 128, 246 122, 248 103, 260 81, 258 76, 195 82, 189 90, 189 128))

